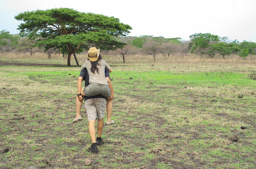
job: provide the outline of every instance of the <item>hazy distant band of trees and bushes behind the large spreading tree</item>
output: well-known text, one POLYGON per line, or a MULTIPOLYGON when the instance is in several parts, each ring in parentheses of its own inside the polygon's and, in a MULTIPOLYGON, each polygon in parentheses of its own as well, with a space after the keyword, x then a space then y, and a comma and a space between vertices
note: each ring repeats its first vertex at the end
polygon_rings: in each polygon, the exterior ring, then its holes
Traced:
MULTIPOLYGON (((39 38, 40 39, 40 38, 39 38)), ((225 56, 230 54, 238 54, 240 57, 246 58, 249 54, 256 55, 256 43, 251 41, 238 42, 237 40, 228 41, 227 37, 218 37, 210 33, 195 33, 190 36, 190 41, 181 41, 181 38, 164 38, 154 37, 152 35, 142 35, 140 37, 116 37, 116 41, 124 43, 124 47, 102 50, 105 55, 114 54, 122 55, 123 63, 125 56, 142 54, 151 55, 156 61, 157 54, 166 55, 168 58, 174 53, 180 53, 182 58, 185 53, 196 53, 198 55, 206 55, 209 58, 214 58, 216 53, 225 56), (111 51, 111 52, 110 52, 111 51)), ((20 37, 20 35, 11 35, 9 31, 0 31, 0 50, 28 52, 30 55, 36 52, 45 52, 48 59, 53 53, 62 53, 60 48, 47 47, 38 43, 38 39, 30 39, 29 37, 20 37)), ((63 58, 67 53, 63 53, 63 58)))

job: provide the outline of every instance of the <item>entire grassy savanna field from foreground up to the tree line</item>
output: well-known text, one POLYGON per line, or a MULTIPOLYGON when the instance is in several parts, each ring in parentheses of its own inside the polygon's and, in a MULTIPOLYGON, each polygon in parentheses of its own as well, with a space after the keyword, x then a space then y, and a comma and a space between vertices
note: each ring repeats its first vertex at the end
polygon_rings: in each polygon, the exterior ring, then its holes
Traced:
POLYGON ((253 56, 103 56, 113 71, 115 124, 104 125, 98 154, 86 151, 84 108, 72 124, 80 67, 46 58, 0 55, 0 169, 256 168, 253 56))

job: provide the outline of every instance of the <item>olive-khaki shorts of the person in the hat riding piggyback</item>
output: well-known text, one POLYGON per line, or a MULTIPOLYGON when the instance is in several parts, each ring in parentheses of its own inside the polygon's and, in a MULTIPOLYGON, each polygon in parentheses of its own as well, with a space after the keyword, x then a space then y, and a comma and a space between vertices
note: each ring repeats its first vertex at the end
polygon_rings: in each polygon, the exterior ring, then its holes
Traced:
POLYGON ((86 96, 96 96, 98 94, 101 94, 102 96, 108 98, 111 96, 111 91, 108 85, 102 85, 100 83, 90 83, 89 86, 86 86, 83 89, 83 92, 86 96))

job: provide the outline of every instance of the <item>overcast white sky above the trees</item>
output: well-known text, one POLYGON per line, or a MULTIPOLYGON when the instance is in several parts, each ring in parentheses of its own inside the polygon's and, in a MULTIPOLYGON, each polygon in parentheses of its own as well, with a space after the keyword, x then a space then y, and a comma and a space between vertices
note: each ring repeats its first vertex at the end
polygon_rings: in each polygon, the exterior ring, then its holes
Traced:
POLYGON ((19 33, 14 16, 52 8, 114 16, 132 26, 130 36, 189 40, 194 33, 212 33, 256 42, 256 0, 1 0, 0 30, 19 33))

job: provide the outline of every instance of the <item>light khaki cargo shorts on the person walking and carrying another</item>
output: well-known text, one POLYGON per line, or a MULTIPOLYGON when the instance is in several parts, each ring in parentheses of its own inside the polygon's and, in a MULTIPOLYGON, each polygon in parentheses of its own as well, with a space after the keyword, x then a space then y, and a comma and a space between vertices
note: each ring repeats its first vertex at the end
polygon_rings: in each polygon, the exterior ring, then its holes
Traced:
POLYGON ((91 98, 85 100, 84 103, 88 121, 96 120, 96 118, 99 120, 104 118, 104 112, 107 105, 106 98, 91 98))

